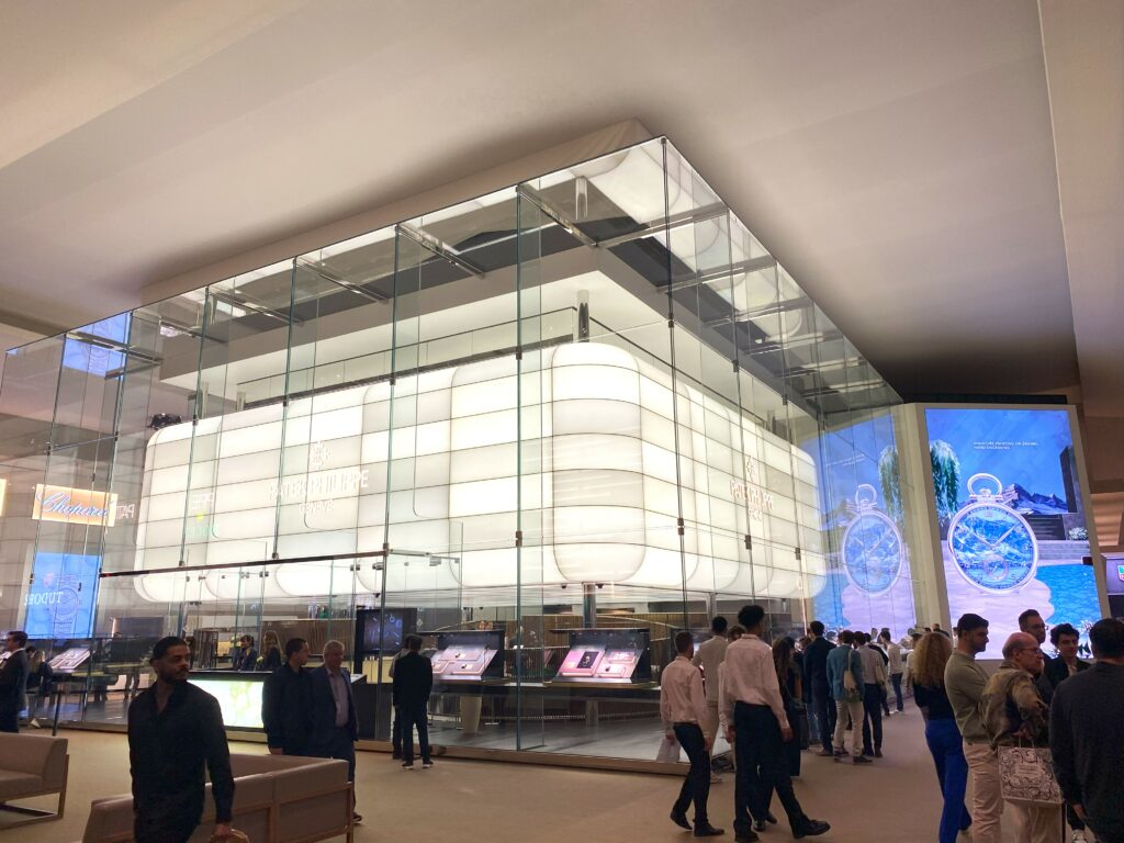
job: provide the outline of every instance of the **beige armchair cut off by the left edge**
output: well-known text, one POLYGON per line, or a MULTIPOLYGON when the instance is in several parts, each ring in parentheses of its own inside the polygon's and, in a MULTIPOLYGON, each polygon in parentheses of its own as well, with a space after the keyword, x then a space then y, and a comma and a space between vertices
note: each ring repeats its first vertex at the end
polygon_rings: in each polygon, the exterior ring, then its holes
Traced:
POLYGON ((7 823, 11 828, 44 819, 58 819, 66 808, 66 774, 70 755, 65 737, 0 733, 0 812, 25 818, 7 823), (12 799, 58 795, 56 810, 39 810, 10 805, 12 799))

